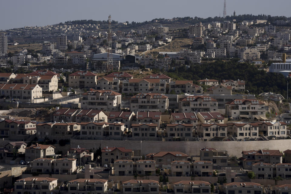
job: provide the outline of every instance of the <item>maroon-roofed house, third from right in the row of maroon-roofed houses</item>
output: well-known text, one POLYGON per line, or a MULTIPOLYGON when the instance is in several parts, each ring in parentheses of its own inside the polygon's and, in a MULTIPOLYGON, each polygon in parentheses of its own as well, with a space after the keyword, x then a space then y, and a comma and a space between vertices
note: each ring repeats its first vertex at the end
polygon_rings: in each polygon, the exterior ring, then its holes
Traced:
POLYGON ((161 112, 136 112, 134 115, 132 123, 154 123, 160 129, 161 123, 161 112))

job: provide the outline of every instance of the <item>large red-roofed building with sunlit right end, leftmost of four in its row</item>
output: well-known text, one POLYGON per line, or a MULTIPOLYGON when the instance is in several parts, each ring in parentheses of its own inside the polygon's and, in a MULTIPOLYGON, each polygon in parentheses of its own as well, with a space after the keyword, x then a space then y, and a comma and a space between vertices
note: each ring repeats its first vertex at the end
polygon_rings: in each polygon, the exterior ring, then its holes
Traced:
POLYGON ((112 90, 91 90, 82 94, 81 108, 106 111, 120 110, 121 94, 112 90))

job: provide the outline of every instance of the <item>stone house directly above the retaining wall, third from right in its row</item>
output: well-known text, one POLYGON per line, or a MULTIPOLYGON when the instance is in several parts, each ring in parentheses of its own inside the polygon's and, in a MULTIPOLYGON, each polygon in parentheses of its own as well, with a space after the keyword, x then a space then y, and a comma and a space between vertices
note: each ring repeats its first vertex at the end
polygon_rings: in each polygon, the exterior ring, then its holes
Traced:
POLYGON ((223 139, 227 137, 227 125, 218 123, 200 123, 196 125, 196 133, 203 141, 208 141, 212 138, 223 139))

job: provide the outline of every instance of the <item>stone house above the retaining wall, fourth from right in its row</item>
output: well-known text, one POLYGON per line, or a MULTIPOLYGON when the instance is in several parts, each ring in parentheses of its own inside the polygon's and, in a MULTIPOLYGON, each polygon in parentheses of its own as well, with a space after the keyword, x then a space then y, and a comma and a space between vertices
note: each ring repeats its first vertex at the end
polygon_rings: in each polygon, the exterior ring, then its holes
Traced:
POLYGON ((171 123, 166 125, 168 139, 192 139, 193 124, 171 123))

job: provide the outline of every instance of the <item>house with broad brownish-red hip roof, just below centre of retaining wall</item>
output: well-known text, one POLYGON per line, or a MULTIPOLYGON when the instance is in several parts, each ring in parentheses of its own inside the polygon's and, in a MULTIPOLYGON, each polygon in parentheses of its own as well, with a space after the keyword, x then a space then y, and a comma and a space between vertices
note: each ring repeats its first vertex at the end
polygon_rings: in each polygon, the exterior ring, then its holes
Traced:
POLYGON ((146 159, 156 161, 158 167, 170 167, 173 161, 188 161, 188 155, 182 152, 158 152, 149 153, 146 159))

